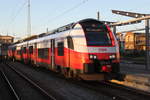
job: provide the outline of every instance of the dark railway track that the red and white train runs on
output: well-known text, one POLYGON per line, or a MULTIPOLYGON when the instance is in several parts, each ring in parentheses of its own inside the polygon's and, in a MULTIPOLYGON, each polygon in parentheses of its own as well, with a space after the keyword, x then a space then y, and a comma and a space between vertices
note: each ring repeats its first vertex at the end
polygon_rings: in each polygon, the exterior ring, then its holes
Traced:
MULTIPOLYGON (((21 66, 21 64, 20 64, 21 66)), ((24 66, 25 67, 25 66, 24 66)), ((45 70, 45 72, 49 72, 45 70)), ((66 80, 68 83, 78 85, 103 95, 111 97, 113 100, 149 100, 150 95, 143 91, 138 91, 129 87, 121 86, 110 82, 87 82, 77 81, 74 79, 66 79, 59 74, 51 73, 54 77, 66 80)))

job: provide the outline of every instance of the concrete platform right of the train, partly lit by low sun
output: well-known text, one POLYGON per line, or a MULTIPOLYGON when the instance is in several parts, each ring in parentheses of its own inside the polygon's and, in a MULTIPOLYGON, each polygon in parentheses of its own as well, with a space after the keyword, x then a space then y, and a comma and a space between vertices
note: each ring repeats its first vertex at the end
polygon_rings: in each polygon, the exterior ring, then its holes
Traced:
POLYGON ((124 81, 111 82, 150 92, 150 70, 146 70, 145 65, 121 63, 120 68, 124 81))

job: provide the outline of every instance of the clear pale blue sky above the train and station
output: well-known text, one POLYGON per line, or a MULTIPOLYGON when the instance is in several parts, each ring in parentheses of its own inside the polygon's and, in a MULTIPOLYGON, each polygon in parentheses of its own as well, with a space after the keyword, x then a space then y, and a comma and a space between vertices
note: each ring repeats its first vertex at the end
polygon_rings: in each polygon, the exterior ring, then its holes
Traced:
MULTIPOLYGON (((0 35, 27 36, 28 0, 0 0, 0 35)), ((150 0, 31 0, 31 33, 40 34, 85 18, 124 21, 130 18, 115 15, 111 10, 150 14, 150 0)), ((143 25, 132 25, 133 29, 143 25)), ((144 26, 143 26, 144 27, 144 26)), ((130 29, 119 27, 119 31, 130 29)))

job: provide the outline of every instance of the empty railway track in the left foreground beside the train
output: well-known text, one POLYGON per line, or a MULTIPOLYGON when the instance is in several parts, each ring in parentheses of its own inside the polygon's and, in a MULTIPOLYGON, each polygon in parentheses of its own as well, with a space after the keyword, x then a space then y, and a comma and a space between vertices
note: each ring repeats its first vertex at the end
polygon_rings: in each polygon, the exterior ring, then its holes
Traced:
POLYGON ((10 83, 14 85, 14 87, 16 88, 16 94, 18 94, 18 97, 21 98, 18 98, 17 100, 58 100, 57 97, 51 95, 35 82, 33 82, 30 78, 26 77, 24 74, 16 70, 13 65, 5 63, 3 65, 3 69, 6 73, 11 73, 11 76, 8 75, 8 77, 10 77, 11 79, 10 83))

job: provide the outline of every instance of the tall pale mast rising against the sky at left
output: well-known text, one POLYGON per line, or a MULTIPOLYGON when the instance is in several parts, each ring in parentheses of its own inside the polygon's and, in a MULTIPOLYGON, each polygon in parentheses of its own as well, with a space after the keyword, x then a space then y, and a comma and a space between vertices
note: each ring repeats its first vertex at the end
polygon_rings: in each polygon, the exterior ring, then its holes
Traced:
POLYGON ((28 0, 28 24, 27 24, 28 36, 31 36, 31 15, 30 15, 30 0, 28 0))

